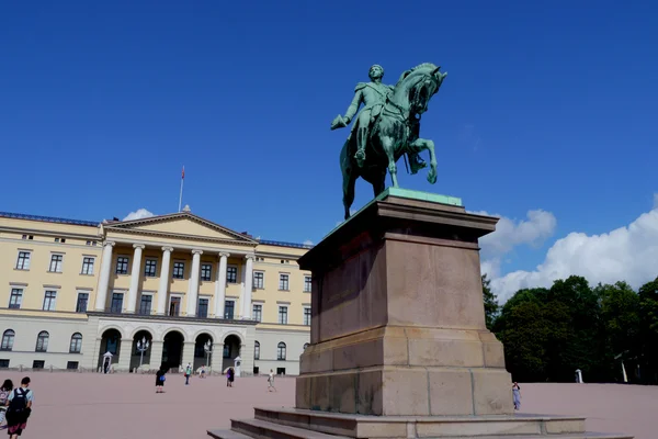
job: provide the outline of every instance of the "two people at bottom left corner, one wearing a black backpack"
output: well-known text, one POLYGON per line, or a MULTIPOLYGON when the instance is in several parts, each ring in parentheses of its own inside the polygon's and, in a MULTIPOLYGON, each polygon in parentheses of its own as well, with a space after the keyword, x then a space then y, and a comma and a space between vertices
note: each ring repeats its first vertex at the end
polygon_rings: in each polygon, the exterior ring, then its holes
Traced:
POLYGON ((27 426, 34 402, 34 394, 29 387, 29 376, 21 380, 19 387, 14 389, 11 380, 4 380, 0 387, 0 429, 7 429, 10 439, 16 439, 27 426))

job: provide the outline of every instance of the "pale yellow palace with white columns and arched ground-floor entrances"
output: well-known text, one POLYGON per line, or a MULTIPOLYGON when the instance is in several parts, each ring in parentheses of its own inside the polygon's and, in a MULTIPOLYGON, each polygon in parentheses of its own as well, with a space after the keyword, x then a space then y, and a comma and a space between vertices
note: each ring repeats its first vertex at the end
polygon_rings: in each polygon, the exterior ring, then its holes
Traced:
POLYGON ((189 207, 102 223, 0 213, 0 368, 219 372, 239 357, 242 375, 298 374, 309 248, 189 207))

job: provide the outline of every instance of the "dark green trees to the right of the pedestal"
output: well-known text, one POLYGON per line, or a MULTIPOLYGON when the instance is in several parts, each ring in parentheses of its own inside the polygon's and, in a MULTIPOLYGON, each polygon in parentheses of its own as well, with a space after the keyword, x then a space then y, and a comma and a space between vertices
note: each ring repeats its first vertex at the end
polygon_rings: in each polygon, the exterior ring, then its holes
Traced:
POLYGON ((487 327, 504 346, 520 382, 658 384, 658 278, 634 291, 626 282, 590 286, 578 275, 549 289, 519 290, 498 304, 483 275, 487 327))

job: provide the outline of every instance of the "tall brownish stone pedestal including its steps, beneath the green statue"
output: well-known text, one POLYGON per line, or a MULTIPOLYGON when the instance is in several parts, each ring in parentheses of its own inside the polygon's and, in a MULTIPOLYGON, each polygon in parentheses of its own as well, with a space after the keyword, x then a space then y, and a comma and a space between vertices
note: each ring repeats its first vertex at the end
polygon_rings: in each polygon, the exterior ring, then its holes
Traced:
POLYGON ((296 408, 257 408, 208 435, 629 438, 587 434, 581 417, 513 414, 478 254, 497 221, 455 199, 386 190, 299 259, 313 299, 296 408))

